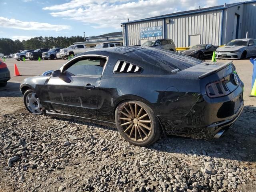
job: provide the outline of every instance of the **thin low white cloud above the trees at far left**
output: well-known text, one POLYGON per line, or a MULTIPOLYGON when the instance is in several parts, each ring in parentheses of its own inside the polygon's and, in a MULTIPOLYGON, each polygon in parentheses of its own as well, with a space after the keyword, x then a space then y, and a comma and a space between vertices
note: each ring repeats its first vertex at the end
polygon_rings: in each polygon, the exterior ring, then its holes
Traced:
POLYGON ((70 30, 68 25, 53 25, 49 23, 39 23, 39 22, 27 22, 20 21, 16 19, 8 19, 0 17, 0 26, 5 28, 15 28, 22 30, 41 30, 41 31, 61 31, 70 30))

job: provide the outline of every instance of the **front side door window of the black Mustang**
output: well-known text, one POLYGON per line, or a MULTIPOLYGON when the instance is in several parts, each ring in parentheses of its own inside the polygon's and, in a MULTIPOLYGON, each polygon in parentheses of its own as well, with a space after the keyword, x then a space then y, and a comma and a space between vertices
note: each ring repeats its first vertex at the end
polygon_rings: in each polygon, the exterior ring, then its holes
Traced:
POLYGON ((71 76, 101 76, 106 58, 81 58, 70 66, 64 74, 71 76))

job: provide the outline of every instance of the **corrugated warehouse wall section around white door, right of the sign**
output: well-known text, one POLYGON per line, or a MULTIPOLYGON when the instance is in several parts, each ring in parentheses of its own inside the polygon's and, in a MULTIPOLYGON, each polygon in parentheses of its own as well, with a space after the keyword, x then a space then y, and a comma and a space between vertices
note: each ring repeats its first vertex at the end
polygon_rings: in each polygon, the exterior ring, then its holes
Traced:
MULTIPOLYGON (((168 19, 168 18, 167 18, 168 19)), ((222 10, 172 17, 166 24, 166 38, 174 40, 177 47, 189 46, 190 35, 200 35, 201 44, 219 45, 222 10)))

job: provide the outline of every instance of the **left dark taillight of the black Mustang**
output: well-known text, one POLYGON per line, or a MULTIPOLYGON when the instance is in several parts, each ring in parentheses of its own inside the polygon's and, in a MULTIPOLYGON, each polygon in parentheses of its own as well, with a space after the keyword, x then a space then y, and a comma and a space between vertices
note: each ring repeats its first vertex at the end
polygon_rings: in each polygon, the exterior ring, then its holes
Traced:
POLYGON ((206 93, 210 98, 222 97, 230 94, 225 79, 210 83, 206 86, 206 93))

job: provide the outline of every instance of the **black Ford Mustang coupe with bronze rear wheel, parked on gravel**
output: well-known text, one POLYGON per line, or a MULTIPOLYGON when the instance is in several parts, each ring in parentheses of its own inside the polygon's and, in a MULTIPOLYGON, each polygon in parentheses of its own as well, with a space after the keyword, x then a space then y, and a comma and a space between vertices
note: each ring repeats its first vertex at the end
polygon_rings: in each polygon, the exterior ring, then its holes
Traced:
POLYGON ((147 146, 161 134, 219 138, 242 112, 243 86, 232 62, 131 46, 78 54, 20 90, 33 114, 116 124, 147 146))

